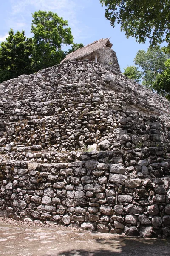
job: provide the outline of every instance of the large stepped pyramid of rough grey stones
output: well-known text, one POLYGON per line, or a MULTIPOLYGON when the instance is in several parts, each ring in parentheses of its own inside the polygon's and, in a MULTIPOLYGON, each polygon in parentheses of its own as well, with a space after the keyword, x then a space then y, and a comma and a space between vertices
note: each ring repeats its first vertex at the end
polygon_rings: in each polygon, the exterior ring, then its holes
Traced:
POLYGON ((169 200, 170 104, 119 64, 64 61, 0 84, 1 216, 162 237, 169 200))

